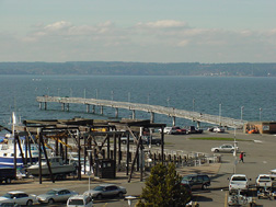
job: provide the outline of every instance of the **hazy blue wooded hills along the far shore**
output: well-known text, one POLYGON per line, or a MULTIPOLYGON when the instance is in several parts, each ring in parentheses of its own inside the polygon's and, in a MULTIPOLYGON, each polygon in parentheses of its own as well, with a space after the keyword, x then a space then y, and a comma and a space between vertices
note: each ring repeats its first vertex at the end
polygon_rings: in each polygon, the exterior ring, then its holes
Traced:
POLYGON ((0 62, 0 74, 276 77, 276 64, 0 62))

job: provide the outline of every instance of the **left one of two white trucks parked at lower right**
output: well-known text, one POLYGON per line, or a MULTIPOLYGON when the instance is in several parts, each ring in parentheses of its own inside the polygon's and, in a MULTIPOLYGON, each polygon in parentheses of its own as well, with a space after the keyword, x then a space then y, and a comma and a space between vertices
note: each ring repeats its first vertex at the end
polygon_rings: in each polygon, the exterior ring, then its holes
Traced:
POLYGON ((229 181, 229 194, 232 193, 248 193, 249 180, 245 174, 233 174, 229 181))

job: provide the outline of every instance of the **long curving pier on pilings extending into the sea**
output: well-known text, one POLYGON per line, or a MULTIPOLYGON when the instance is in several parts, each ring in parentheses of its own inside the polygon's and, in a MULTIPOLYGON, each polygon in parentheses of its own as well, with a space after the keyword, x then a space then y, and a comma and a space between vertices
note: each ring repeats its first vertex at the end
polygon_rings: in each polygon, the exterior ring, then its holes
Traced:
POLYGON ((83 99, 83 97, 61 97, 61 96, 37 96, 36 101, 39 103, 41 110, 47 110, 47 103, 61 104, 62 111, 69 111, 70 104, 83 104, 87 105, 87 112, 95 113, 95 106, 100 107, 100 114, 104 113, 104 107, 113 107, 115 110, 115 117, 118 117, 118 108, 129 110, 133 112, 133 119, 135 119, 136 112, 142 111, 150 114, 150 120, 154 123, 154 114, 164 114, 172 117, 172 125, 175 126, 175 118, 185 118, 197 123, 209 123, 212 125, 219 125, 230 128, 243 128, 248 120, 234 119, 230 117, 203 114, 198 112, 191 112, 185 110, 177 110, 174 107, 165 107, 160 105, 149 105, 141 103, 118 102, 97 99, 83 99), (44 105, 44 106, 43 106, 44 105))

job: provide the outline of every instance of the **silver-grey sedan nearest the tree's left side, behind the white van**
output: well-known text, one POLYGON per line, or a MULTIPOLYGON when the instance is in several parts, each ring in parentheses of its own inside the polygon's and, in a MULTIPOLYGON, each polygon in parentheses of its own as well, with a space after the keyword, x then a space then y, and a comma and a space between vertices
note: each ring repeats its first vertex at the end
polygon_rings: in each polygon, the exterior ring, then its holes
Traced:
POLYGON ((120 197, 123 198, 124 195, 127 193, 126 188, 123 186, 117 186, 114 184, 102 184, 93 189, 87 191, 84 195, 91 195, 93 198, 102 199, 103 197, 120 197))

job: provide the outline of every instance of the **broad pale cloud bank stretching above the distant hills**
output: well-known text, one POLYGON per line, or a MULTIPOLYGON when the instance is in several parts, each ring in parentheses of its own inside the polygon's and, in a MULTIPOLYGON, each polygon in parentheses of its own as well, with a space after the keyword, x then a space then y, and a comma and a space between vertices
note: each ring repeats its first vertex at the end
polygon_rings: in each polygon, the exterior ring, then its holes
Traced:
POLYGON ((129 27, 57 21, 32 25, 25 35, 0 32, 0 61, 276 61, 275 50, 276 28, 202 28, 175 20, 129 27))

